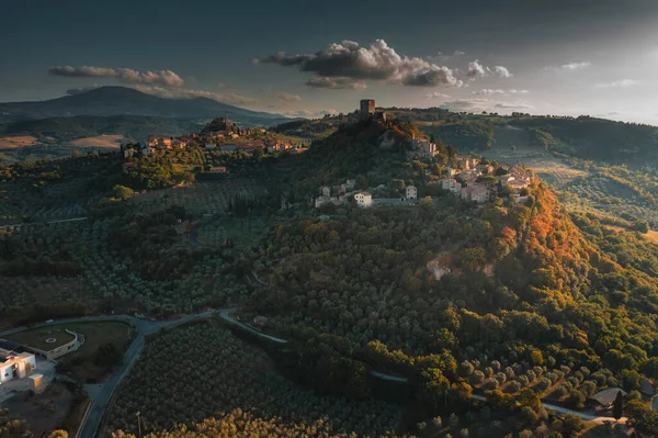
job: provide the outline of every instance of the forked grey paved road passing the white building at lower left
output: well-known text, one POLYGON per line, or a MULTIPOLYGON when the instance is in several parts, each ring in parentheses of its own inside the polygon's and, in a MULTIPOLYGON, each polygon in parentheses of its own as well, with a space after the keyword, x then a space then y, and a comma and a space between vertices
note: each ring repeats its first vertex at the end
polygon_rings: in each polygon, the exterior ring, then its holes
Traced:
POLYGON ((84 422, 80 425, 79 436, 82 438, 93 438, 99 431, 99 427, 101 425, 103 416, 105 415, 107 405, 110 404, 110 401, 114 395, 114 391, 116 390, 123 378, 125 378, 128 374, 128 372, 137 361, 137 358, 139 358, 139 353, 141 353, 141 350, 146 345, 146 335, 154 334, 160 328, 175 327, 178 325, 185 324, 193 319, 206 318, 212 316, 214 313, 215 312, 212 311, 196 315, 188 315, 174 321, 149 321, 128 315, 84 316, 79 318, 58 319, 49 324, 39 324, 31 327, 15 327, 10 330, 1 332, 0 337, 11 335, 18 332, 23 332, 25 329, 50 326, 54 324, 117 321, 128 323, 135 326, 135 328, 137 329, 137 336, 135 337, 135 339, 131 344, 131 347, 124 355, 122 366, 116 371, 114 371, 114 373, 110 377, 110 379, 107 379, 106 382, 102 384, 102 388, 93 395, 93 397, 90 396, 91 407, 89 409, 89 414, 84 418, 84 422))

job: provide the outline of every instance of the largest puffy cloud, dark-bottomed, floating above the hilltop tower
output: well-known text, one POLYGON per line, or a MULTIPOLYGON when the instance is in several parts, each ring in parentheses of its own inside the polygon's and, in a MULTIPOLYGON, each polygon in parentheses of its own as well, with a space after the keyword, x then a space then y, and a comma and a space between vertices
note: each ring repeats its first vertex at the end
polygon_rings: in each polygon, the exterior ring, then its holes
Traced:
POLYGON ((461 87, 447 67, 440 67, 429 60, 399 55, 384 40, 376 40, 370 47, 362 47, 353 41, 329 44, 315 54, 288 55, 280 52, 260 59, 258 64, 277 64, 297 67, 300 71, 315 75, 306 83, 320 88, 331 87, 330 79, 343 80, 386 80, 406 86, 461 87))

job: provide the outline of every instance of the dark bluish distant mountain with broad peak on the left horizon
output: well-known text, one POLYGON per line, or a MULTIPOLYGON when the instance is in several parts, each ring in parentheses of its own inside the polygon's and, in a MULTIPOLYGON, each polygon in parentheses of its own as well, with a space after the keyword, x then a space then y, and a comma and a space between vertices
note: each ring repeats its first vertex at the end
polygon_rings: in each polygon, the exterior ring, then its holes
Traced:
POLYGON ((164 99, 125 87, 101 87, 38 102, 0 103, 0 123, 76 115, 148 115, 197 120, 228 116, 245 126, 270 126, 290 121, 281 114, 245 110, 213 99, 164 99))

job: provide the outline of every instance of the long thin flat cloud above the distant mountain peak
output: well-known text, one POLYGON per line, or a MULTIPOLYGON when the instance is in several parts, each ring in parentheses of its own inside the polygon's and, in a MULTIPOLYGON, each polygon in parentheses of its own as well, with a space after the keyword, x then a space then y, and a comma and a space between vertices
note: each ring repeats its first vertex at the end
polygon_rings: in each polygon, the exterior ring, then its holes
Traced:
POLYGON ((171 70, 137 71, 131 68, 105 68, 105 67, 50 67, 50 75, 69 76, 78 78, 116 78, 123 82, 152 83, 162 87, 182 87, 184 81, 171 70))

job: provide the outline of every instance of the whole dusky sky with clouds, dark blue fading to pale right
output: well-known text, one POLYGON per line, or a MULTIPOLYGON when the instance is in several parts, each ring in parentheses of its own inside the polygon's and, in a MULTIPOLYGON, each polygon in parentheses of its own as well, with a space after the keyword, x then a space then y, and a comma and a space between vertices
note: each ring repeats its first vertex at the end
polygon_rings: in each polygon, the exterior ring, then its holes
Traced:
POLYGON ((655 0, 21 0, 0 101, 104 85, 294 116, 377 106, 658 125, 655 0))

